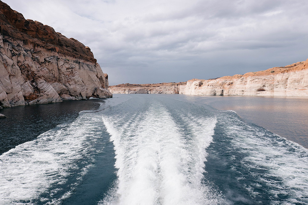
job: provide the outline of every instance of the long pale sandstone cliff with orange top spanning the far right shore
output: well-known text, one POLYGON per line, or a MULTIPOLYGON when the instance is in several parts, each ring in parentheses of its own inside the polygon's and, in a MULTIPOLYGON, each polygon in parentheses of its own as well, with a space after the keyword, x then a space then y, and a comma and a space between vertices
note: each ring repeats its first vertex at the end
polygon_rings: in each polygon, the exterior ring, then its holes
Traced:
POLYGON ((148 88, 156 85, 155 90, 170 94, 304 97, 308 96, 308 59, 285 67, 275 67, 264 71, 245 73, 244 75, 225 76, 209 80, 192 79, 187 83, 173 83, 173 86, 166 86, 169 85, 168 83, 145 85, 128 86, 122 84, 111 86, 111 92, 147 93, 148 88), (174 90, 177 92, 173 92, 174 90))

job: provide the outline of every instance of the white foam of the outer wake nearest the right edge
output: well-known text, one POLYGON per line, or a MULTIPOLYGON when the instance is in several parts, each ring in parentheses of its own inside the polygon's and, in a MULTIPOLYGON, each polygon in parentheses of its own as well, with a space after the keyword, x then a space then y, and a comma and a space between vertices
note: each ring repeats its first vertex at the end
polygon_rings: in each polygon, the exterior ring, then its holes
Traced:
MULTIPOLYGON (((283 204, 308 203, 308 150, 279 136, 265 133, 249 125, 229 126, 232 143, 247 156, 242 165, 246 168, 262 168, 265 175, 257 175, 259 181, 273 187, 278 195, 289 195, 283 204)), ((253 192, 253 190, 251 190, 253 192)), ((281 202, 279 202, 281 203, 281 202)))

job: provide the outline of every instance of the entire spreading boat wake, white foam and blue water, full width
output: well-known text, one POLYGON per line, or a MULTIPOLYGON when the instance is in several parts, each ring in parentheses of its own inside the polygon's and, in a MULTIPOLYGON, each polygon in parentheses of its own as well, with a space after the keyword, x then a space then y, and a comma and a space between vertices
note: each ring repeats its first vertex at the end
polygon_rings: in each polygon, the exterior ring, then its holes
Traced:
POLYGON ((96 102, 4 146, 0 204, 308 204, 307 149, 234 112, 179 95, 96 102))

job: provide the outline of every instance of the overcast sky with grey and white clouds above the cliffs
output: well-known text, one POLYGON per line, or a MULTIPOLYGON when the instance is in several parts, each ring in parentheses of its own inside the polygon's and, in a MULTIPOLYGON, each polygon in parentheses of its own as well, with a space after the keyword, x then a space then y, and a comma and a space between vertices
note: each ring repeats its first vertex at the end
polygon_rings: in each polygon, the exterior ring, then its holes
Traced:
POLYGON ((3 0, 89 46, 109 85, 244 74, 308 58, 306 0, 3 0))

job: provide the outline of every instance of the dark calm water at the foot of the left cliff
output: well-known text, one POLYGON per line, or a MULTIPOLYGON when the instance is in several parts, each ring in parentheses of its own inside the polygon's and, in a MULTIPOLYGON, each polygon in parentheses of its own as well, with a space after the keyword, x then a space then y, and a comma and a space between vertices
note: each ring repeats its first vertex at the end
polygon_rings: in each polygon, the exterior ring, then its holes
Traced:
POLYGON ((88 100, 4 108, 1 113, 7 117, 0 121, 0 154, 18 144, 34 140, 58 124, 70 123, 80 111, 98 107, 97 100, 88 100))

